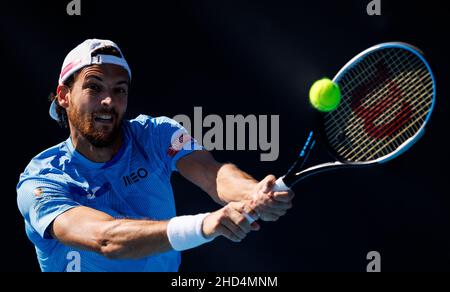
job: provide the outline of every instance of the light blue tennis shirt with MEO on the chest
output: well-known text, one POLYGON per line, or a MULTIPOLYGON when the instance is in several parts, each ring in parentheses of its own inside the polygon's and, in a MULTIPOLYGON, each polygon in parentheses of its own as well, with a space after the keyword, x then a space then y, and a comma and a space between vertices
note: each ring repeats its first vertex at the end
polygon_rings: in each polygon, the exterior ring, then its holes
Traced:
POLYGON ((86 206, 115 218, 168 220, 176 216, 170 184, 176 162, 202 149, 167 117, 140 115, 123 122, 123 143, 106 163, 88 160, 71 139, 34 157, 20 175, 17 203, 42 271, 177 271, 180 253, 111 260, 53 239, 49 226, 65 211, 86 206), (76 269, 76 268, 75 268, 76 269))

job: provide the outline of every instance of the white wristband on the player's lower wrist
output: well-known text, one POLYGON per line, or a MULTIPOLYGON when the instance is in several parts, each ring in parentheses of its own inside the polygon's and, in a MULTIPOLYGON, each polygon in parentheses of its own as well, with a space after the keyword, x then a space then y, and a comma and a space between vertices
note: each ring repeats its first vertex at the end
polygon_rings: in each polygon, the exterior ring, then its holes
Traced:
POLYGON ((167 237, 170 245, 177 251, 182 251, 197 247, 214 239, 205 238, 203 235, 203 219, 209 213, 178 216, 170 219, 167 225, 167 237))

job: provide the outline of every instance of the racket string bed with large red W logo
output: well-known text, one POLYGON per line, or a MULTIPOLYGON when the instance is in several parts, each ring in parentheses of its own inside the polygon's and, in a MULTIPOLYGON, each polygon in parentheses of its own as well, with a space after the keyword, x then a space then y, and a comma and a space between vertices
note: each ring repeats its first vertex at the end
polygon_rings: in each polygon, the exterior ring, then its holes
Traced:
POLYGON ((327 114, 325 128, 331 146, 348 161, 377 159, 398 149, 419 131, 432 104, 433 82, 425 64, 404 49, 366 56, 338 83, 343 103, 327 114), (354 95, 363 93, 355 109, 354 95), (339 133, 345 135, 342 141, 339 133))

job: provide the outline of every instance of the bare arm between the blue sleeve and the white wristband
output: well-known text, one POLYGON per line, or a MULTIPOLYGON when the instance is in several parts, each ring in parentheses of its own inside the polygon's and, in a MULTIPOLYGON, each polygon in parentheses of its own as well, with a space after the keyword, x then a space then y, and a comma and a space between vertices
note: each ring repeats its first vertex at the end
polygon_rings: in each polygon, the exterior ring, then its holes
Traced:
POLYGON ((60 242, 108 258, 141 258, 171 249, 168 221, 115 219, 108 214, 76 207, 59 215, 50 232, 60 242))

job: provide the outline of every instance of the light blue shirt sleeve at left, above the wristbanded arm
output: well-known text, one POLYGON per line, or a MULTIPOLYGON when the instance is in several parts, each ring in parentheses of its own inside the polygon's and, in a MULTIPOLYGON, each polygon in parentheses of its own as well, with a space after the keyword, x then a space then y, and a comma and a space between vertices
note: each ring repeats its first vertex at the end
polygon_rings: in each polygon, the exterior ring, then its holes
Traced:
POLYGON ((51 238, 48 227, 56 217, 80 206, 63 184, 42 177, 19 182, 17 204, 25 220, 46 239, 51 238))

